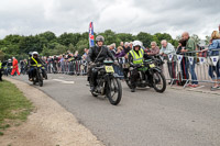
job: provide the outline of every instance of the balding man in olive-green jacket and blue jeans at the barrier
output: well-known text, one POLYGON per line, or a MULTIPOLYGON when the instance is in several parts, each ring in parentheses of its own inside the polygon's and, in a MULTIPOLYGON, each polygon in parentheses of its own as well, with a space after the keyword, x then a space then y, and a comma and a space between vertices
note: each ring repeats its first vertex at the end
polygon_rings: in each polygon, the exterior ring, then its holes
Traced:
MULTIPOLYGON (((188 56, 196 57, 196 54, 195 54, 196 43, 191 37, 189 37, 189 33, 184 32, 182 34, 182 37, 184 41, 186 41, 186 48, 182 49, 182 53, 186 53, 186 55, 188 55, 188 56)), ((194 88, 198 87, 197 76, 196 76, 196 71, 195 71, 196 61, 197 61, 196 59, 194 59, 193 64, 187 61, 187 65, 189 67, 189 72, 191 75, 191 85, 189 85, 189 87, 194 87, 194 88)))

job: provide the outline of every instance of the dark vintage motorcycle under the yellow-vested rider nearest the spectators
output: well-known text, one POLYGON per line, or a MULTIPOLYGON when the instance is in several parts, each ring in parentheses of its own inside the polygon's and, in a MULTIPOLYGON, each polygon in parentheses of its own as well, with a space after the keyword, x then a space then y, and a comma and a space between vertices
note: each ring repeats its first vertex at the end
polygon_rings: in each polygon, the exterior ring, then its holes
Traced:
POLYGON ((166 90, 166 79, 158 67, 158 63, 155 59, 144 60, 143 64, 130 66, 124 71, 124 78, 128 87, 131 89, 131 74, 133 69, 138 69, 140 78, 136 80, 136 86, 140 88, 151 87, 156 92, 164 92, 166 90))

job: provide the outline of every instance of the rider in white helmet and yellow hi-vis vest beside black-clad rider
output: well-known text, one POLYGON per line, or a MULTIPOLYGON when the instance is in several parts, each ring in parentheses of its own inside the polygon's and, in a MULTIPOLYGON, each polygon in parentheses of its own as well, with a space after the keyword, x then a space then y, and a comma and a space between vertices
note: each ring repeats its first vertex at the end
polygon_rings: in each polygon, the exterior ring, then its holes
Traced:
MULTIPOLYGON (((136 67, 143 64, 144 58, 148 59, 148 55, 144 54, 144 49, 142 48, 142 42, 134 41, 133 48, 129 52, 129 63, 131 67, 136 67)), ((136 80, 140 78, 140 74, 138 69, 133 69, 131 74, 131 92, 135 92, 136 89, 136 80)))

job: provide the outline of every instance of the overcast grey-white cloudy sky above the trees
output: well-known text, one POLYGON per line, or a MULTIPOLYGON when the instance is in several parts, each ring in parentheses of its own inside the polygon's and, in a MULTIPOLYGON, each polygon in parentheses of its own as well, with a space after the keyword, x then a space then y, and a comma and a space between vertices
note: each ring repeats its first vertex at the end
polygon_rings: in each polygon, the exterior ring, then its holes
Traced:
POLYGON ((220 0, 2 0, 0 38, 9 34, 30 35, 52 31, 169 33, 184 31, 201 38, 218 30, 220 0))

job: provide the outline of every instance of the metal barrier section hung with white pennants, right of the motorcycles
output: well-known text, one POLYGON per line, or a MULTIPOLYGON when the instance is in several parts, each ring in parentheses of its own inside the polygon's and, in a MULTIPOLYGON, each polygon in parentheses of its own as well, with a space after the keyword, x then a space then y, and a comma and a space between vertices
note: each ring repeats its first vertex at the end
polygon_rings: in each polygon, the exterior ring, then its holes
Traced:
POLYGON ((166 79, 170 80, 170 86, 174 82, 184 82, 184 88, 189 83, 209 82, 220 83, 220 50, 218 55, 207 55, 201 50, 188 52, 185 54, 168 54, 164 59, 164 75, 166 79), (170 70, 168 70, 172 68, 170 70), (215 75, 216 74, 216 75, 215 75), (189 76, 190 75, 190 76, 189 76))

